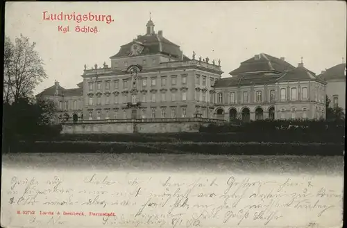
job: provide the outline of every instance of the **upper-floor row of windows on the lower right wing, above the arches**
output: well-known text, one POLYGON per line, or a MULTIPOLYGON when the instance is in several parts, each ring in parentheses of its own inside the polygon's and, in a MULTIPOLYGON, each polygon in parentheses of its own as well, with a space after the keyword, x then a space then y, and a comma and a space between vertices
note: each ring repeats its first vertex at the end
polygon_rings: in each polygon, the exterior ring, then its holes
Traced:
MULTIPOLYGON (((301 98, 303 100, 306 100, 308 98, 307 96, 307 87, 301 88, 301 98)), ((270 102, 275 102, 276 100, 276 93, 275 90, 270 91, 270 102)), ((287 100, 287 89, 282 88, 280 89, 280 101, 286 101, 287 100)), ((298 92, 297 88, 293 87, 290 89, 290 100, 298 100, 298 92)), ((262 91, 255 91, 255 102, 262 102, 263 101, 263 94, 262 91)), ((223 103, 223 93, 219 92, 217 94, 217 102, 223 103)), ((248 103, 249 102, 249 92, 244 91, 242 94, 242 102, 248 103)), ((231 92, 230 93, 230 103, 236 103, 236 93, 231 92)))

